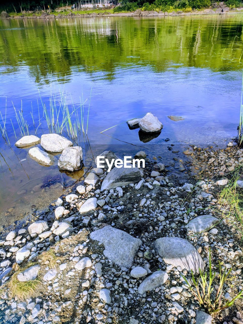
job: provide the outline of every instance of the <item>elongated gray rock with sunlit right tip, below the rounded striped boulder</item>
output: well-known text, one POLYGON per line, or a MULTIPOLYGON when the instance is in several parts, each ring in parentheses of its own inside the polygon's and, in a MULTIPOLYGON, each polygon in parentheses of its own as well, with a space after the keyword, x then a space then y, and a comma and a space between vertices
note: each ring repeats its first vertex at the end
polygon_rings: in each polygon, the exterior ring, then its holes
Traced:
POLYGON ((151 291, 154 288, 160 287, 168 279, 168 274, 164 271, 156 271, 148 276, 138 287, 138 293, 143 295, 146 291, 151 291))

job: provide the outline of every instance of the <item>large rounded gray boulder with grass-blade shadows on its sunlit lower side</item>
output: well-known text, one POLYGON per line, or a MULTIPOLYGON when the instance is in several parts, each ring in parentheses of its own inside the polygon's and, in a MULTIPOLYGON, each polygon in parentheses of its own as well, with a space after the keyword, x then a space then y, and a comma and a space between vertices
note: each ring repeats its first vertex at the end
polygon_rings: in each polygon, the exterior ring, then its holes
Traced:
POLYGON ((180 237, 161 237, 154 243, 156 253, 168 264, 188 271, 203 270, 203 260, 191 243, 180 237))

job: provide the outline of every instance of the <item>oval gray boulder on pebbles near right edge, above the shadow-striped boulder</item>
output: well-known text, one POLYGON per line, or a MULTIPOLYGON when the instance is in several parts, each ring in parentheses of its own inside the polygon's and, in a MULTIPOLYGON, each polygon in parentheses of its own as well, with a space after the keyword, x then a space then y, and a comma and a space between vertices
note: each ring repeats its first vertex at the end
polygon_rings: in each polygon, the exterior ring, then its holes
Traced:
POLYGON ((200 233, 210 230, 220 221, 218 218, 210 215, 202 215, 192 219, 185 227, 189 232, 200 233))

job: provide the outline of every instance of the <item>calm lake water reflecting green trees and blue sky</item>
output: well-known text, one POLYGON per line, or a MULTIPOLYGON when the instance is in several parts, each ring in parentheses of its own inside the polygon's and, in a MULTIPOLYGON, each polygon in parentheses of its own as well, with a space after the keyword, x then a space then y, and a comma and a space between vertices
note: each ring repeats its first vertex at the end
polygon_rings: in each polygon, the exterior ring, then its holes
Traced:
MULTIPOLYGON (((237 135, 242 26, 241 14, 0 20, 0 111, 10 143, 0 138, 0 225, 49 203, 63 183, 82 175, 60 173, 58 156, 45 168, 28 149, 17 149, 14 107, 17 114, 22 110, 29 134, 41 136, 48 132, 42 105, 50 117, 50 96, 58 109, 63 92, 79 121, 85 102, 84 129, 90 107, 88 146, 96 152, 113 145, 119 153, 125 145, 127 153, 143 149, 166 162, 170 144, 224 145, 237 135), (164 125, 149 142, 124 122, 147 112, 164 125)), ((76 142, 85 146, 82 136, 76 142)))

